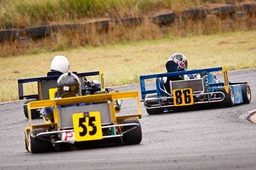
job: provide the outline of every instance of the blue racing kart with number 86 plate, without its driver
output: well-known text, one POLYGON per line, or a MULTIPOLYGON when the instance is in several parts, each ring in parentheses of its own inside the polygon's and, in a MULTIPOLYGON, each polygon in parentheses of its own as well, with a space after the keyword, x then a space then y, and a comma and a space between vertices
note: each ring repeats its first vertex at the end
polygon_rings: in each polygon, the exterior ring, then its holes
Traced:
POLYGON ((232 107, 236 104, 250 103, 252 97, 247 82, 230 83, 228 81, 225 66, 141 75, 140 88, 141 102, 149 115, 195 108, 205 104, 232 107), (220 72, 222 76, 217 79, 216 74, 220 72), (190 79, 192 76, 189 75, 193 75, 194 78, 190 79), (156 82, 151 88, 150 83, 146 83, 146 80, 150 79, 155 79, 156 82))

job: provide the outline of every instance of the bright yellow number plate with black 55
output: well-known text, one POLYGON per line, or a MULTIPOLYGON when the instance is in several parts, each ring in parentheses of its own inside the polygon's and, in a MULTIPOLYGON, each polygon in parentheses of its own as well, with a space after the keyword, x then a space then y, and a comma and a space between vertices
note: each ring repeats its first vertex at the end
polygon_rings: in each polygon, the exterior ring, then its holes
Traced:
POLYGON ((102 139, 102 129, 99 111, 72 115, 76 141, 92 141, 102 139))

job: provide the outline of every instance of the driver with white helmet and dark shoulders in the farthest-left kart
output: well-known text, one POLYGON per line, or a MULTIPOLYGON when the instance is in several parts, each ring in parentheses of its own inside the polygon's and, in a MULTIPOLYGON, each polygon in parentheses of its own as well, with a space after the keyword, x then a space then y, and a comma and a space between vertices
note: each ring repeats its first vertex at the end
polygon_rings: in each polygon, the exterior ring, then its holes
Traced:
POLYGON ((56 76, 63 73, 67 73, 69 69, 69 61, 67 57, 63 55, 56 55, 51 62, 51 71, 47 73, 47 76, 56 76))

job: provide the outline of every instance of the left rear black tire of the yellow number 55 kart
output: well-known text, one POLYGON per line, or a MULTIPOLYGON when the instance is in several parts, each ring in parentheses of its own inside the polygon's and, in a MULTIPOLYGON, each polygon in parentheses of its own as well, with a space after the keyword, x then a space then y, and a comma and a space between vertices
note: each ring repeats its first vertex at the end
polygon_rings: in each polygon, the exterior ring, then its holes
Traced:
MULTIPOLYGON (((33 129, 31 131, 33 136, 40 132, 46 132, 46 129, 40 128, 40 129, 33 129)), ((43 139, 36 139, 33 136, 30 136, 31 153, 44 153, 44 152, 51 151, 51 149, 52 149, 51 142, 43 140, 43 139)))

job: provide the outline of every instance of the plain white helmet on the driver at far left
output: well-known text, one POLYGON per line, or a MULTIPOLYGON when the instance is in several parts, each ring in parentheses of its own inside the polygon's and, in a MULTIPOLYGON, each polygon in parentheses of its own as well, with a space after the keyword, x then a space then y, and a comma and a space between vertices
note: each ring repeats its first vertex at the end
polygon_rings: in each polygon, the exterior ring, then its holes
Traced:
POLYGON ((69 69, 69 62, 63 55, 56 55, 51 62, 51 71, 59 71, 67 73, 69 69))

